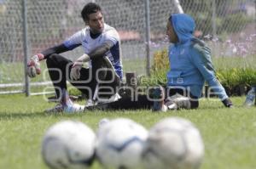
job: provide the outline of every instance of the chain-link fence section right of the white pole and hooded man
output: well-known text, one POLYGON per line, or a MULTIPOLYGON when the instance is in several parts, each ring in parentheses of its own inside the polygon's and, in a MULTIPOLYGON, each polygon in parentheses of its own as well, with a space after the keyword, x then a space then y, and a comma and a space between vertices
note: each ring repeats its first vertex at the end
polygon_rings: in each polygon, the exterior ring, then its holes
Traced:
POLYGON ((213 56, 256 54, 256 1, 180 0, 185 13, 195 18, 197 37, 212 47, 213 56))

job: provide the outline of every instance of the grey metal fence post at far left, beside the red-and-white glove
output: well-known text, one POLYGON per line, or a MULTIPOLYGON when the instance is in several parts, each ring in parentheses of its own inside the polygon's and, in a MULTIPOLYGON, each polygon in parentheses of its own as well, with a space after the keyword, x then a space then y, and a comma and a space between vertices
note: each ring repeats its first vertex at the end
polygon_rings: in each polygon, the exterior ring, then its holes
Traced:
POLYGON ((30 95, 29 78, 26 76, 26 64, 28 58, 28 42, 27 42, 27 15, 26 15, 26 0, 22 1, 22 18, 23 18, 23 50, 24 50, 24 77, 25 77, 25 93, 30 95))

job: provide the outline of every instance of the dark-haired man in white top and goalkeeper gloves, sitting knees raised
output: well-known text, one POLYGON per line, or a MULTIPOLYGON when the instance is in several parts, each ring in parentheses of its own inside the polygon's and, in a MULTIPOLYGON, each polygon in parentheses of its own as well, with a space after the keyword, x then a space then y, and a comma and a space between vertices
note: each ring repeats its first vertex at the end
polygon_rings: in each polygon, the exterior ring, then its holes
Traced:
POLYGON ((81 16, 87 25, 81 31, 53 48, 48 48, 40 54, 35 54, 28 62, 27 75, 30 77, 40 74, 39 61, 46 59, 49 77, 55 87, 56 98, 60 100, 48 112, 77 112, 84 106, 73 104, 67 93, 67 81, 74 87, 96 101, 97 93, 110 98, 117 93, 117 87, 123 77, 121 49, 118 32, 104 23, 102 8, 96 3, 87 3, 81 16), (61 56, 61 53, 81 46, 84 54, 72 62, 61 56), (84 63, 90 63, 85 68, 84 63), (35 73, 36 71, 36 73, 35 73), (99 85, 101 84, 101 85, 99 85))

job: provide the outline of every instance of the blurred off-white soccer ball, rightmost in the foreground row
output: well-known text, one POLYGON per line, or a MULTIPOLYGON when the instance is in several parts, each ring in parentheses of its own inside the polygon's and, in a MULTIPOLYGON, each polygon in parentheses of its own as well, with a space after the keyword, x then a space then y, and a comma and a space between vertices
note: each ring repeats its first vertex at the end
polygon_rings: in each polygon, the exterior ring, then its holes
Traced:
POLYGON ((166 118, 152 127, 143 149, 147 169, 196 169, 201 166, 204 144, 199 130, 188 120, 166 118))

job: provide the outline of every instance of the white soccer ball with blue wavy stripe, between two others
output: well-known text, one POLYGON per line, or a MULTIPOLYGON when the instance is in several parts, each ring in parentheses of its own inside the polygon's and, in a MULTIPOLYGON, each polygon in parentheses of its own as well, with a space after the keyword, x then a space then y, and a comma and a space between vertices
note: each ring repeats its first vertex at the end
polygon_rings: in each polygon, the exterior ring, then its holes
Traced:
POLYGON ((106 168, 141 168, 148 131, 130 119, 118 118, 99 127, 96 156, 106 168))

